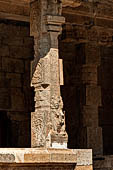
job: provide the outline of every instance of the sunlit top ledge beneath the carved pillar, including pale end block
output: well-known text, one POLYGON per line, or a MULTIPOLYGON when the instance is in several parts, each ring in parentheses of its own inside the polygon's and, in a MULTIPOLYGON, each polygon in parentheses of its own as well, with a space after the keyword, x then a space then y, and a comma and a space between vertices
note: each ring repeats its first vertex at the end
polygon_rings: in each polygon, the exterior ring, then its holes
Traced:
POLYGON ((91 149, 0 148, 0 164, 76 164, 91 166, 91 149))

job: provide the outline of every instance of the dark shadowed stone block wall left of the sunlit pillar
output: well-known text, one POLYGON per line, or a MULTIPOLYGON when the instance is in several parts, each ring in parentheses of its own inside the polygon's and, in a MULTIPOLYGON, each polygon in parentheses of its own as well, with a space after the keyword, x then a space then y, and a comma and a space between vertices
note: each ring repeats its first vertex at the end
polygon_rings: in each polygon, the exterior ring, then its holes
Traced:
POLYGON ((0 147, 30 147, 34 54, 29 35, 29 24, 0 20, 0 147))

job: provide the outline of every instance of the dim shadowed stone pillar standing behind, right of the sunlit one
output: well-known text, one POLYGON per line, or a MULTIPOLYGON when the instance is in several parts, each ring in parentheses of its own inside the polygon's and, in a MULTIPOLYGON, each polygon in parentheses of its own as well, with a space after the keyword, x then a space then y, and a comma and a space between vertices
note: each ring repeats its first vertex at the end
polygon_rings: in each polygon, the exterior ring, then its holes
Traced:
POLYGON ((82 66, 82 81, 85 85, 85 101, 82 107, 83 136, 87 148, 92 148, 94 155, 103 153, 102 128, 99 127, 98 112, 101 106, 101 87, 98 85, 98 67, 100 48, 89 42, 85 45, 85 64, 82 66))

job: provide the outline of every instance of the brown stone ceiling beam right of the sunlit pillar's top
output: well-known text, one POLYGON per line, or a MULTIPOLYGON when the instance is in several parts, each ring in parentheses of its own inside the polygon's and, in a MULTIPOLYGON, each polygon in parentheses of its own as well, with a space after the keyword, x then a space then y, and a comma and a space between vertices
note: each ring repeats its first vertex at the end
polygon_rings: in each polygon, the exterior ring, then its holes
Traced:
POLYGON ((63 13, 113 19, 113 0, 62 0, 63 13))

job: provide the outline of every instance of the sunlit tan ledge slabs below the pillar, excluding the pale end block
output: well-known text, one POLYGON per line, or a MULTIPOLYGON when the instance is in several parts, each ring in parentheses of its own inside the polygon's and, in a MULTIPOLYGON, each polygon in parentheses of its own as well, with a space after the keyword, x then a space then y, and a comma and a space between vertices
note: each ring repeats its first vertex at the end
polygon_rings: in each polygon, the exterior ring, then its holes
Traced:
POLYGON ((0 163, 66 163, 76 164, 77 156, 68 149, 0 149, 0 163))

